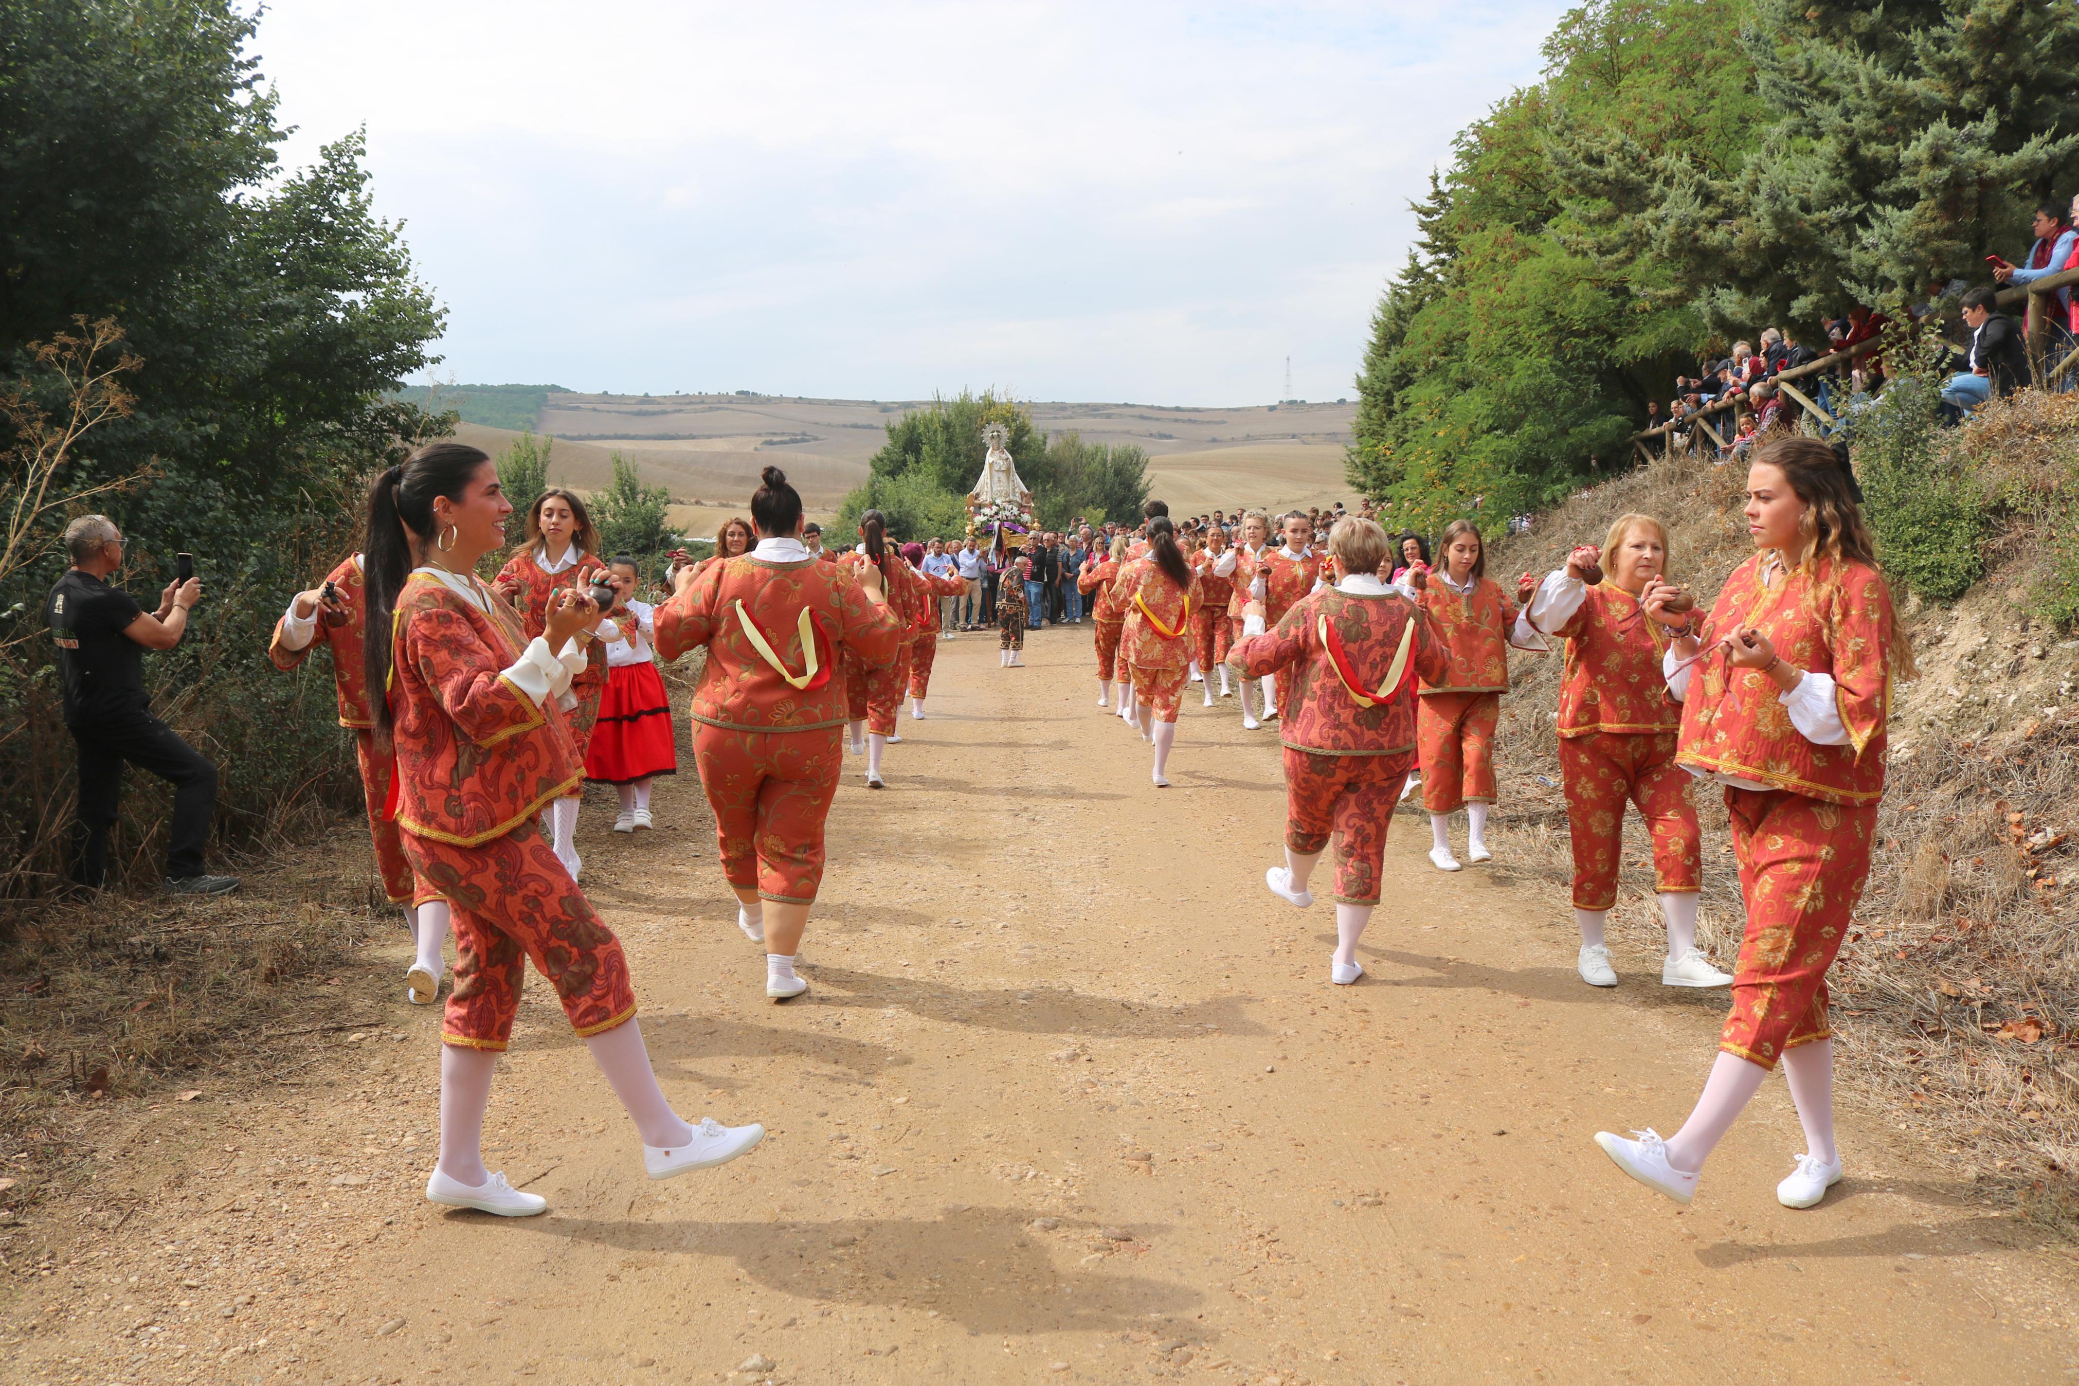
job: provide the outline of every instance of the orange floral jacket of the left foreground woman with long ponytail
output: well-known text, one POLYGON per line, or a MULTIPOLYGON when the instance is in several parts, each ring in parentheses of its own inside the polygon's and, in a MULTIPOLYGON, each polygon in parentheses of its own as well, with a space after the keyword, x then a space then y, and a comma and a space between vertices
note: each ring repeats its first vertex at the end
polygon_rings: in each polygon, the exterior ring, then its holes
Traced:
POLYGON ((584 777, 555 700, 536 707, 505 677, 528 634, 503 596, 482 590, 489 611, 412 574, 391 646, 397 827, 466 848, 532 823, 584 777))

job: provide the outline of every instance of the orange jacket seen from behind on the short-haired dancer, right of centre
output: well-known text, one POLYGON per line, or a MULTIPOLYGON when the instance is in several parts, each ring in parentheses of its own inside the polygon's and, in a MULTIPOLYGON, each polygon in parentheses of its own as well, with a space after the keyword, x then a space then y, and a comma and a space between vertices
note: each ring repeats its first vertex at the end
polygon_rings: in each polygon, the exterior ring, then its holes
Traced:
POLYGON ((1243 677, 1293 675, 1279 723, 1291 750, 1397 756, 1416 746, 1414 679, 1443 675, 1445 650, 1424 611, 1399 592, 1322 588, 1293 603, 1277 628, 1237 640, 1227 663, 1243 677))

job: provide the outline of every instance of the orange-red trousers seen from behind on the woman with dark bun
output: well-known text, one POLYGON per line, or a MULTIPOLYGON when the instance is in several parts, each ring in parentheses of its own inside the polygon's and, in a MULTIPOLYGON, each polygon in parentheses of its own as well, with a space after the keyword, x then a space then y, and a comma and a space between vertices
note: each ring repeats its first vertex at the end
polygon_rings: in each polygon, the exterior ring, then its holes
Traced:
POLYGON ((780 904, 815 900, 823 883, 823 825, 844 771, 840 731, 732 731, 694 723, 692 758, 715 810, 730 885, 780 904))

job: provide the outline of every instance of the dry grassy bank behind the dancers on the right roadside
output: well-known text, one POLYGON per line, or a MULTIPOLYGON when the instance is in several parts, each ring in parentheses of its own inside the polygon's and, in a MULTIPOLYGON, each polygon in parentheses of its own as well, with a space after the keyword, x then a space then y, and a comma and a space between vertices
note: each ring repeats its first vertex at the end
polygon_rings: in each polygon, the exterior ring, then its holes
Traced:
MULTIPOLYGON (((2027 399, 1988 420, 1971 447, 1998 451, 2015 490, 2067 465, 2079 403, 2027 399)), ((1663 459, 1597 486, 1530 534, 1497 544, 1491 571, 1549 571, 1601 542, 1626 511, 1669 524, 1674 576, 1713 594, 1748 553, 1746 468, 1663 459)), ((2071 476, 2067 472, 2067 476, 2071 476)), ((2017 526, 2029 524, 2017 515, 2017 526)), ((1921 677, 1898 690, 1879 848, 1857 927, 1830 975, 1842 1097, 1902 1122, 1988 1201, 2079 1236, 2079 877, 2067 837, 2079 802, 2079 709, 2042 707, 2079 679, 2079 657, 2033 630, 2027 542, 1954 609, 1906 603, 1921 677)), ((1497 825, 1511 854, 1565 889, 1553 709, 1559 659, 1516 657, 1503 700, 1497 825)), ((1705 825, 1701 941, 1730 964, 1744 921, 1726 808, 1699 796, 1705 825)), ((1620 970, 1659 956, 1647 839, 1626 823, 1613 914, 1620 970)), ((1570 929, 1561 910, 1555 929, 1570 929)))

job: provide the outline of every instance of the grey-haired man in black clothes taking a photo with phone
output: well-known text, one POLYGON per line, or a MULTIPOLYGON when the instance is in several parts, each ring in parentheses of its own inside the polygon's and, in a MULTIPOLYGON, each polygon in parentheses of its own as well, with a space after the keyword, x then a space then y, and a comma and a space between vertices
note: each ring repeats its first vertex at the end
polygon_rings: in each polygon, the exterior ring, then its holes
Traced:
POLYGON ((202 601, 202 582, 168 582, 148 613, 106 578, 123 565, 123 536, 106 515, 81 515, 64 528, 73 567, 50 590, 44 623, 58 644, 64 725, 79 744, 79 823, 73 827, 73 879, 100 889, 108 875, 108 829, 116 823, 123 763, 173 783, 166 889, 214 896, 237 877, 202 871, 202 848, 216 810, 216 767, 152 715, 143 692, 143 652, 170 650, 202 601))

